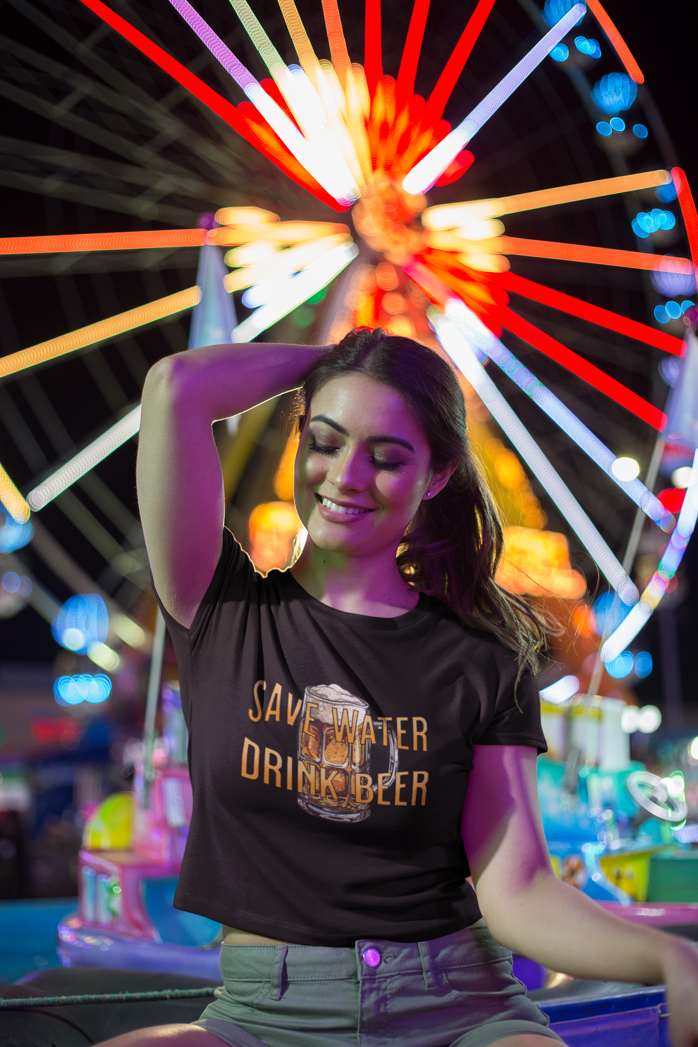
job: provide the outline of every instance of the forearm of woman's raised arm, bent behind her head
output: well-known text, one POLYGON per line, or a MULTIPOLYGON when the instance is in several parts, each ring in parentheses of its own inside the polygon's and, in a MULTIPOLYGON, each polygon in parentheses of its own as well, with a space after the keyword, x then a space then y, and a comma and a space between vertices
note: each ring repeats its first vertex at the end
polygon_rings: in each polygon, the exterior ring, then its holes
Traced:
POLYGON ((229 418, 296 388, 330 346, 241 342, 204 346, 164 357, 151 371, 143 402, 170 401, 206 422, 229 418))

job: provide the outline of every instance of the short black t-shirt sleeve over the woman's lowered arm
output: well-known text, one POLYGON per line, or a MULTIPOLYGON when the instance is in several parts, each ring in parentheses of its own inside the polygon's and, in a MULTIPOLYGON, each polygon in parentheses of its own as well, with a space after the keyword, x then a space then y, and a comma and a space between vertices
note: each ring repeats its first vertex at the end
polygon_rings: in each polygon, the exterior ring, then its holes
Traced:
POLYGON ((546 753, 545 735, 540 721, 540 697, 534 674, 525 667, 518 684, 518 665, 512 660, 501 672, 493 714, 481 733, 473 739, 476 745, 531 745, 546 753))

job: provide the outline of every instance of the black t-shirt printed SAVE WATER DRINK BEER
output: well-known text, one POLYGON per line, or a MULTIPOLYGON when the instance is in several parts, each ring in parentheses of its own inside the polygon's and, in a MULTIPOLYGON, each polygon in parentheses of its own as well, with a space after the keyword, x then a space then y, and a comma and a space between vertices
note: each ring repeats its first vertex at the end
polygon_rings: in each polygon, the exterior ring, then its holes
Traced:
POLYGON ((190 628, 166 614, 194 811, 175 905, 308 945, 479 918, 460 837, 474 744, 545 751, 528 669, 421 595, 397 618, 263 578, 229 531, 190 628))

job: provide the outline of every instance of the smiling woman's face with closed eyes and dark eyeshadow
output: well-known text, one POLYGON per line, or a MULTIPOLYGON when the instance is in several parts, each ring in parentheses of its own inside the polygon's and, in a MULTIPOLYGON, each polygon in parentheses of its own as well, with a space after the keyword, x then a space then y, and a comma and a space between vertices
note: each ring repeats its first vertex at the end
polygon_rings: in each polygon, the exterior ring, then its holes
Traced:
POLYGON ((427 490, 433 497, 449 475, 432 476, 424 433, 391 386, 346 375, 313 398, 294 496, 317 549, 395 555, 427 490))

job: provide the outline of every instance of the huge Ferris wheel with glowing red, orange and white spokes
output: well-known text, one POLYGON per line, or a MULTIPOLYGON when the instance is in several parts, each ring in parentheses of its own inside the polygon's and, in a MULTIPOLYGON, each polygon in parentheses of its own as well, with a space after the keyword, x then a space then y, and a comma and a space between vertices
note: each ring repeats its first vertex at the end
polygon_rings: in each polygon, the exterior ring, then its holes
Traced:
MULTIPOLYGON (((380 325, 453 360, 509 522, 547 519, 633 607, 607 638, 621 653, 698 512, 692 485, 680 513, 653 493, 698 221, 599 0, 477 0, 457 24, 429 0, 10 3, 0 92, 43 138, 3 139, 0 179, 43 196, 48 224, 37 236, 18 219, 0 241, 5 288, 20 288, 0 359, 16 600, 60 607, 21 570, 31 541, 59 587, 107 601, 105 671, 112 647, 147 648, 129 617, 148 571, 123 475, 148 365, 218 329, 327 342, 380 325), (646 517, 669 545, 640 593, 646 517)), ((582 595, 579 580, 559 595, 582 595)))

